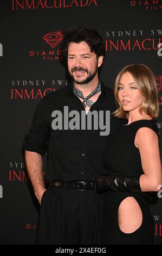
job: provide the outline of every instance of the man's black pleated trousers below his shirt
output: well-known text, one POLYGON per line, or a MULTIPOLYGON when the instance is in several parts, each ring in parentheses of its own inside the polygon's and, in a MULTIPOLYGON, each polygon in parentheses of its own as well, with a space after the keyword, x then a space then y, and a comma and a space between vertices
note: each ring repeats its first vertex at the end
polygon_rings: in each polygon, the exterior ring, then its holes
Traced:
POLYGON ((36 244, 100 245, 102 204, 95 189, 49 187, 42 196, 36 244))

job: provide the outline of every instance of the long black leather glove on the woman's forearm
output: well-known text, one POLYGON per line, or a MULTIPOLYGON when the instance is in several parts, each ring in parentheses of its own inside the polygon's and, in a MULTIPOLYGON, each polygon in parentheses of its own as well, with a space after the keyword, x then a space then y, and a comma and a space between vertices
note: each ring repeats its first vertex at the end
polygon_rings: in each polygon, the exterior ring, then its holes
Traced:
POLYGON ((96 187, 98 193, 105 190, 142 192, 139 184, 140 176, 100 175, 96 187))

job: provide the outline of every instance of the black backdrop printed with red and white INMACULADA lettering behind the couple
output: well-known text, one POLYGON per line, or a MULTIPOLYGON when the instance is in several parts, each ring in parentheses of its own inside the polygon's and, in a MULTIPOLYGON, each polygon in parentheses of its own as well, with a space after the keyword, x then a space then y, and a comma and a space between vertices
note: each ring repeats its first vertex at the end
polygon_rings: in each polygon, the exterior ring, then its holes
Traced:
MULTIPOLYGON (((108 87, 113 88, 116 74, 125 65, 148 65, 157 78, 162 108, 162 0, 0 2, 0 243, 33 244, 38 203, 21 148, 38 101, 69 84, 61 64, 64 32, 83 26, 97 29, 103 36, 106 56, 100 77, 108 87)), ((157 126, 162 133, 161 115, 157 126)), ((162 137, 160 151, 161 142, 162 137)), ((158 202, 151 205, 151 212, 154 242, 162 244, 162 192, 158 202)))

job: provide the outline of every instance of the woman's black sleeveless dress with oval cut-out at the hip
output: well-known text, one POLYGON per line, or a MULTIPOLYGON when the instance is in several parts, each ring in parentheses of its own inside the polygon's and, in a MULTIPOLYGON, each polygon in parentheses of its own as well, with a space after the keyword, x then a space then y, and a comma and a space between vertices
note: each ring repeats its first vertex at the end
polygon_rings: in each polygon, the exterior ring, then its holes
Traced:
MULTIPOLYGON (((143 174, 139 149, 134 145, 135 134, 141 127, 148 127, 158 135, 154 119, 138 120, 110 136, 103 162, 108 175, 140 176, 143 174)), ((147 139, 147 138, 146 138, 147 139)), ((153 244, 154 223, 149 210, 148 193, 110 191, 103 200, 102 244, 143 245, 153 244), (126 234, 119 228, 118 209, 122 200, 134 197, 142 211, 142 224, 133 233, 126 234)))

